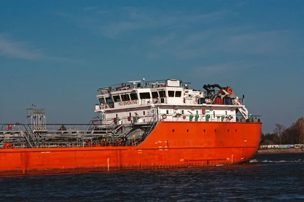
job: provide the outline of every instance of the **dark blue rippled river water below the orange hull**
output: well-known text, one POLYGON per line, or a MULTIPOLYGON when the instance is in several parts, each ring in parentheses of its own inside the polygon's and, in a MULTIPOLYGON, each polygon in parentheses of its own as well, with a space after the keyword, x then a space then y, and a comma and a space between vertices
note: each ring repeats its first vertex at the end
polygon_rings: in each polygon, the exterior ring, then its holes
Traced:
POLYGON ((0 178, 0 201, 304 201, 304 154, 240 166, 0 178))

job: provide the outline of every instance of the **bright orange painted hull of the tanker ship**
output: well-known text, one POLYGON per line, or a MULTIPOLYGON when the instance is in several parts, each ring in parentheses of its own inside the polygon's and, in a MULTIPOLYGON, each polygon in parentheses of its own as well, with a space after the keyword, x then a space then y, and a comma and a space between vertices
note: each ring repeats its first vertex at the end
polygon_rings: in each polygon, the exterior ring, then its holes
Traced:
POLYGON ((0 176, 235 165, 260 135, 261 123, 166 121, 138 146, 0 149, 0 176))

